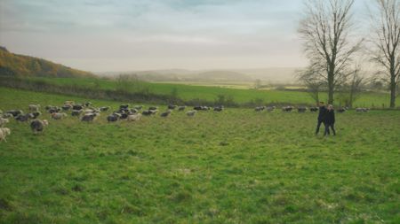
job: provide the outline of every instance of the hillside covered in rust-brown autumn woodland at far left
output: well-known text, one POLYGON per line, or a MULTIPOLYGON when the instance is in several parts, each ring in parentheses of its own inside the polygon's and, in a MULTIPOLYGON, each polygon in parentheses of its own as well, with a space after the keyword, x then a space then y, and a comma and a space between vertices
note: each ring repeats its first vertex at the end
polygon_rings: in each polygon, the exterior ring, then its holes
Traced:
POLYGON ((0 46, 0 75, 45 76, 45 77, 82 77, 92 73, 76 70, 68 66, 52 63, 42 58, 13 54, 0 46))

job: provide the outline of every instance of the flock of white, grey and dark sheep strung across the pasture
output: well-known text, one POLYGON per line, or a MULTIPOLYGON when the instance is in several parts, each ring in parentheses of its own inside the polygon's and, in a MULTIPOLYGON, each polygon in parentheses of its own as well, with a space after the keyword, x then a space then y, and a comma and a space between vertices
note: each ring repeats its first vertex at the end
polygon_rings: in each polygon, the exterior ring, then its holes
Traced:
MULTIPOLYGON (((178 112, 184 112, 186 110, 186 106, 178 106, 174 104, 169 104, 168 109, 165 112, 161 112, 161 117, 168 117, 172 113, 172 111, 177 110, 178 112)), ((102 107, 93 107, 92 103, 87 102, 84 104, 76 104, 74 101, 66 101, 62 106, 52 106, 47 105, 44 107, 44 110, 48 112, 52 118, 52 120, 61 120, 68 116, 67 112, 73 116, 77 117, 79 120, 84 122, 92 122, 96 120, 101 112, 108 112, 110 109, 109 106, 102 107)), ((255 112, 273 112, 276 109, 275 106, 258 106, 254 109, 255 112)), ((297 109, 298 112, 317 112, 318 107, 293 107, 293 106, 284 106, 282 107, 283 112, 292 112, 297 109)), ((220 106, 195 106, 193 110, 186 112, 186 114, 190 117, 196 115, 198 111, 214 111, 214 112, 222 112, 224 107, 220 106)), ((346 112, 348 108, 340 108, 338 112, 346 112)), ((3 112, 0 110, 0 142, 6 142, 6 136, 11 134, 11 129, 8 127, 4 127, 7 123, 10 122, 10 119, 15 119, 19 122, 27 122, 30 121, 30 128, 34 132, 34 134, 41 133, 44 131, 44 127, 46 127, 49 122, 48 120, 40 120, 38 117, 42 114, 40 112, 39 104, 30 104, 28 105, 28 113, 24 113, 21 110, 10 110, 7 112, 3 112)), ((356 112, 368 112, 367 108, 356 108, 356 112)), ((128 121, 137 121, 140 120, 141 116, 152 116, 158 113, 158 107, 150 106, 147 110, 143 109, 143 105, 135 105, 130 108, 129 104, 122 104, 119 106, 119 109, 111 112, 107 116, 108 122, 116 122, 117 120, 128 120, 128 121)))

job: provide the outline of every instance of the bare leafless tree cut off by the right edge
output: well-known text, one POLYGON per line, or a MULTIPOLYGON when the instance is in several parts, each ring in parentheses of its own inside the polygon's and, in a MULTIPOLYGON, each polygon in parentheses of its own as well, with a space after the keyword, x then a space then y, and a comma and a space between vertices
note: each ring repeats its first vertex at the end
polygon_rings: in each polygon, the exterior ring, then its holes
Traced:
POLYGON ((400 81, 400 1, 375 0, 378 12, 371 13, 374 50, 372 59, 384 68, 389 83, 390 107, 396 106, 400 81))

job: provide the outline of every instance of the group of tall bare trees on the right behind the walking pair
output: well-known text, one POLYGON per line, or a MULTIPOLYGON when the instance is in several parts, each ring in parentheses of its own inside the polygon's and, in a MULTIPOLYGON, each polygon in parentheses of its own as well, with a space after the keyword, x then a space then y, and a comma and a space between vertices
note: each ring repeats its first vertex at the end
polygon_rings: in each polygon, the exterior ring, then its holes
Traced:
POLYGON ((373 0, 369 8, 368 36, 355 35, 352 8, 355 0, 305 0, 299 34, 308 58, 308 67, 299 79, 311 97, 328 92, 328 104, 341 94, 352 106, 364 84, 362 62, 367 56, 376 65, 376 77, 388 85, 390 108, 395 108, 400 81, 400 0, 373 0), (366 52, 366 53, 365 53, 366 52), (346 93, 346 94, 345 94, 346 93))

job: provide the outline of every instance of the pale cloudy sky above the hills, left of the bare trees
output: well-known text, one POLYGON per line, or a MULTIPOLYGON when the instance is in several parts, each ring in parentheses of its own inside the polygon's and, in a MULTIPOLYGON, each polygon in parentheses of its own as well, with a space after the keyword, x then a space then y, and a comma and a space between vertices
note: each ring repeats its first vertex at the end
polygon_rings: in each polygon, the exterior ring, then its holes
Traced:
MULTIPOLYGON (((356 0, 356 16, 365 0, 356 0)), ((306 66, 301 0, 0 0, 0 45, 92 72, 306 66)))

